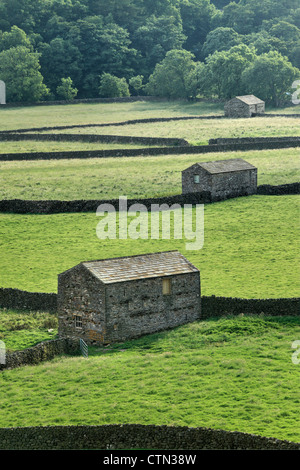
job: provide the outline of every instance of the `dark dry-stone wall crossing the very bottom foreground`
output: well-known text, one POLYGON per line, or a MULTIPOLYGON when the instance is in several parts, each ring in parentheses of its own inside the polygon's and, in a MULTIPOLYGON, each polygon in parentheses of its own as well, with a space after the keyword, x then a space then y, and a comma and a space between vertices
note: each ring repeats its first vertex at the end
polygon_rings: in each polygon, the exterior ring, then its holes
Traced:
MULTIPOLYGON (((111 424, 0 428, 2 450, 300 450, 300 444, 242 432, 111 424)), ((100 462, 101 463, 101 462, 100 462)))

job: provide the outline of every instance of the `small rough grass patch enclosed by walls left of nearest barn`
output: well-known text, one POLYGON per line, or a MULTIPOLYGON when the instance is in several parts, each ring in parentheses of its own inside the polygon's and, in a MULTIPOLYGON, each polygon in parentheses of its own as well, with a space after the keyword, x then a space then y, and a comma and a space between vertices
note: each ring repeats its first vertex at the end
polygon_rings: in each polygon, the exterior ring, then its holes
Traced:
POLYGON ((57 334, 57 317, 48 312, 0 309, 0 340, 6 351, 35 346, 57 334))

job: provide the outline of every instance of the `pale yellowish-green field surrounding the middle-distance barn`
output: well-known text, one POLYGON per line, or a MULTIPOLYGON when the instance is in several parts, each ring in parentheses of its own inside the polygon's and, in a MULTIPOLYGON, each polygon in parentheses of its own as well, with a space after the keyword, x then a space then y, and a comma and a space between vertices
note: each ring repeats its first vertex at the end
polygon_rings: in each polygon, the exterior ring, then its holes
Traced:
POLYGON ((181 194, 181 172, 199 161, 243 158, 258 184, 299 181, 299 149, 0 162, 0 199, 111 199, 181 194), (147 176, 145 176, 147 175, 147 176))

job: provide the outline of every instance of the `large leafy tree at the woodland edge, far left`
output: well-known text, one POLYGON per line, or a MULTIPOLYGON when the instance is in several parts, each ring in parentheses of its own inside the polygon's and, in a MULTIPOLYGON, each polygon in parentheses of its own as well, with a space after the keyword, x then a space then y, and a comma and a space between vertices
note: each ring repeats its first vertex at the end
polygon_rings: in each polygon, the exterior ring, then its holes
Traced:
POLYGON ((0 77, 6 83, 8 101, 39 101, 47 96, 39 56, 24 46, 0 53, 0 77))

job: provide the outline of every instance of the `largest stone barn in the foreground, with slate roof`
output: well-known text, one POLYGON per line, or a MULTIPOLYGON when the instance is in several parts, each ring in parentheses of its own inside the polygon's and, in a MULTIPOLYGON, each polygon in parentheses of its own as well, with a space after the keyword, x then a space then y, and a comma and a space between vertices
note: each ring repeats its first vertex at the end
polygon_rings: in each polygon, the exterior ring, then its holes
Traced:
POLYGON ((195 321, 200 272, 178 251, 87 261, 58 275, 58 333, 122 342, 195 321))

